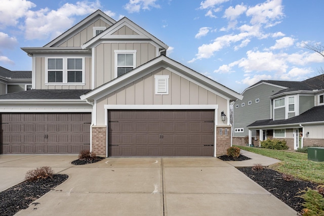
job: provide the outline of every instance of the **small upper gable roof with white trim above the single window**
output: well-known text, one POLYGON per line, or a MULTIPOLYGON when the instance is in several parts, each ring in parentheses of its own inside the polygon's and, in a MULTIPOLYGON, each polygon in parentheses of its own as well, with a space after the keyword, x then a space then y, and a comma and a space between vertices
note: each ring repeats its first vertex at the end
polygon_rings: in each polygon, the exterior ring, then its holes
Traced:
POLYGON ((161 40, 157 39, 155 36, 141 28, 139 25, 128 19, 127 17, 124 17, 114 23, 112 26, 105 29, 103 32, 98 34, 97 36, 90 39, 88 42, 86 42, 82 47, 82 49, 89 49, 96 44, 99 44, 101 40, 123 40, 123 39, 150 39, 154 41, 158 46, 161 48, 167 50, 169 47, 168 45, 164 44, 161 40), (123 26, 127 26, 133 31, 135 31, 138 35, 113 35, 114 32, 116 32, 118 29, 120 29, 123 26))

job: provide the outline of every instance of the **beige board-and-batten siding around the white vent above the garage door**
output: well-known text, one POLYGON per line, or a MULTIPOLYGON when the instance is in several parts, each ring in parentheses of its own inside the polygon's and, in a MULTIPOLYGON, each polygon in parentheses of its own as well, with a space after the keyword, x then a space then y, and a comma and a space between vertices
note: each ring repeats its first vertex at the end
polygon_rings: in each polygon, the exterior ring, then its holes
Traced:
MULTIPOLYGON (((227 110, 227 100, 189 80, 160 68, 97 100, 97 125, 104 125, 104 105, 218 105, 227 110), (155 95, 154 75, 169 75, 169 95, 155 95)), ((188 107, 190 109, 190 107, 188 107)), ((218 124, 223 122, 219 119, 218 124)))

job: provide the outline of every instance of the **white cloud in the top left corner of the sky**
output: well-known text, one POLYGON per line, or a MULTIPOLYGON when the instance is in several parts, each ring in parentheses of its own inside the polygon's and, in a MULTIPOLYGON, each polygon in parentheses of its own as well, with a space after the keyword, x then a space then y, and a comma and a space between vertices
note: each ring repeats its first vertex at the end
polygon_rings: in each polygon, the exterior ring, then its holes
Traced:
POLYGON ((30 8, 36 5, 26 0, 2 0, 0 9, 0 28, 16 26, 30 8))

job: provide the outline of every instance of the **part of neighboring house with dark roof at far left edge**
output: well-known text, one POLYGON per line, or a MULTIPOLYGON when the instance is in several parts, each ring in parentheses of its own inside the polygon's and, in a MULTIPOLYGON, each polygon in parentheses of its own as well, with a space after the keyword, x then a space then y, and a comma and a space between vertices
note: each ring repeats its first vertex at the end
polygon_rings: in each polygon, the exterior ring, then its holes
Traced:
POLYGON ((0 95, 31 89, 31 71, 11 71, 0 66, 0 95))

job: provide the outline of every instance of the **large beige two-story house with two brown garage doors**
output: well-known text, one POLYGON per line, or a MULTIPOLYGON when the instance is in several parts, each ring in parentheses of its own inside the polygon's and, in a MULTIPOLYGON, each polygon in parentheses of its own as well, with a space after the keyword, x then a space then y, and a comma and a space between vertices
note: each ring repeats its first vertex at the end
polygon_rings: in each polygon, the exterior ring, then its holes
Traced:
MULTIPOLYGON (((181 36, 181 35, 179 35, 181 36)), ((3 153, 216 156, 238 93, 166 57, 124 17, 96 11, 32 57, 32 90, 0 96, 3 153)))

